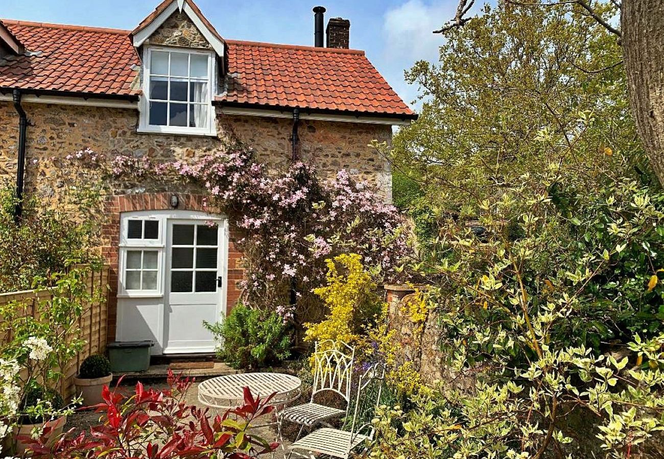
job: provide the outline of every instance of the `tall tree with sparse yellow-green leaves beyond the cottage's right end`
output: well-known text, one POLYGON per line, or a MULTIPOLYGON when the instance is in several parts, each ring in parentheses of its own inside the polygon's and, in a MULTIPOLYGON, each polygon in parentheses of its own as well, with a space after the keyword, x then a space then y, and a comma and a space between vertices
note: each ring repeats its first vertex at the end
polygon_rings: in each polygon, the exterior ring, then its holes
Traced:
POLYGON ((395 169, 444 214, 474 218, 477 202, 548 167, 554 145, 575 144, 564 161, 590 182, 592 164, 617 160, 625 163, 622 176, 649 180, 640 172, 647 166, 627 103, 622 50, 592 19, 571 7, 500 4, 447 38, 440 62, 418 62, 407 73, 421 88, 423 107, 393 149, 395 169), (594 113, 594 123, 580 125, 580 112, 594 113), (542 127, 550 143, 537 141, 542 127))

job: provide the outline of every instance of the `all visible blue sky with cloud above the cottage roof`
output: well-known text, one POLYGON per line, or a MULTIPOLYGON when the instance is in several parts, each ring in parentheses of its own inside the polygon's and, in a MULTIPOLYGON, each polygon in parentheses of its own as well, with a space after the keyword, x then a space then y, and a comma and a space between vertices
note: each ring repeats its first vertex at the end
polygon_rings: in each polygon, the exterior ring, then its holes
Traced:
MULTIPOLYGON (((160 0, 5 0, 2 17, 133 29, 160 0)), ((440 35, 432 30, 454 16, 456 0, 196 0, 226 38, 287 44, 313 44, 316 5, 329 17, 351 20, 351 48, 363 49, 408 103, 417 88, 404 70, 419 59, 437 60, 440 35)))

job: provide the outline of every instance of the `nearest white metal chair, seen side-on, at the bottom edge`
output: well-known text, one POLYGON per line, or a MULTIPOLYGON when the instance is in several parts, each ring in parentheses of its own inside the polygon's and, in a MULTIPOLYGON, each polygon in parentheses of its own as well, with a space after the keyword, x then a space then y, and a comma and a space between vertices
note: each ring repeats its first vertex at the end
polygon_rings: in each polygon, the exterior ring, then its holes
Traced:
POLYGON ((374 428, 371 420, 380 403, 380 393, 385 379, 384 363, 371 366, 359 379, 355 410, 351 430, 319 428, 303 436, 288 448, 292 454, 303 458, 315 458, 325 454, 333 458, 348 459, 361 444, 373 440, 374 428))

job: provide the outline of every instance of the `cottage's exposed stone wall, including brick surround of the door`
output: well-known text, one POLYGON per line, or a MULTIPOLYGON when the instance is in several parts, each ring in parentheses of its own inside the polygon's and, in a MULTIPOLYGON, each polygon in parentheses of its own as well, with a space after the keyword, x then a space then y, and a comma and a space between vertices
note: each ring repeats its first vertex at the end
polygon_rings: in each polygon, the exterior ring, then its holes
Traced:
MULTIPOLYGON (((258 161, 274 170, 286 168, 291 161, 291 120, 221 115, 217 117, 218 138, 139 134, 136 132, 135 109, 74 107, 24 103, 31 125, 27 131, 26 189, 28 195, 37 195, 46 205, 58 206, 62 183, 60 173, 53 170, 52 157, 63 158, 85 147, 109 157, 118 154, 147 155, 155 161, 195 161, 197 157, 222 148, 228 141, 239 140, 251 145, 258 161)), ((0 103, 0 180, 15 183, 18 151, 18 117, 11 103, 0 103)), ((389 166, 380 155, 368 147, 373 139, 390 141, 391 127, 361 123, 330 121, 301 121, 299 129, 302 161, 314 164, 323 177, 331 178, 345 168, 360 179, 380 186, 386 196, 391 193, 389 166)), ((72 174, 74 171, 72 171, 72 174)), ((102 251, 111 265, 110 285, 117 287, 118 222, 121 212, 169 208, 168 193, 149 188, 142 183, 121 183, 113 190, 114 197, 107 207, 110 223, 104 227, 102 251), (122 198, 127 196, 127 198, 122 198)), ((162 190, 163 191, 163 190, 162 190)), ((187 190, 170 189, 181 193, 182 209, 203 210, 199 198, 188 199, 187 190)), ((232 234, 229 257, 230 280, 242 279, 241 254, 234 244, 240 237, 232 234)), ((229 285, 227 304, 232 307, 239 296, 234 285, 229 285)), ((112 295, 114 298, 114 295, 112 295)), ((110 303, 109 336, 115 336, 115 301, 110 303)))

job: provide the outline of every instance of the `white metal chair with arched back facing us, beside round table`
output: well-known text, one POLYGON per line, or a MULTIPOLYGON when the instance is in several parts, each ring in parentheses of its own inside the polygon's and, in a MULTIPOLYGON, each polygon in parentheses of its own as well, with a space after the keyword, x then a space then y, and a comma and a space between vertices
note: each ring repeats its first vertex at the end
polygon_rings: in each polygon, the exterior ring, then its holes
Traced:
POLYGON ((279 435, 282 423, 288 421, 300 425, 295 438, 299 438, 304 429, 309 430, 319 424, 328 425, 327 421, 348 414, 351 402, 351 377, 355 348, 343 341, 325 340, 317 342, 314 359, 313 393, 311 401, 288 407, 278 413, 279 435), (346 409, 339 409, 315 403, 319 393, 337 393, 345 401, 346 409))

